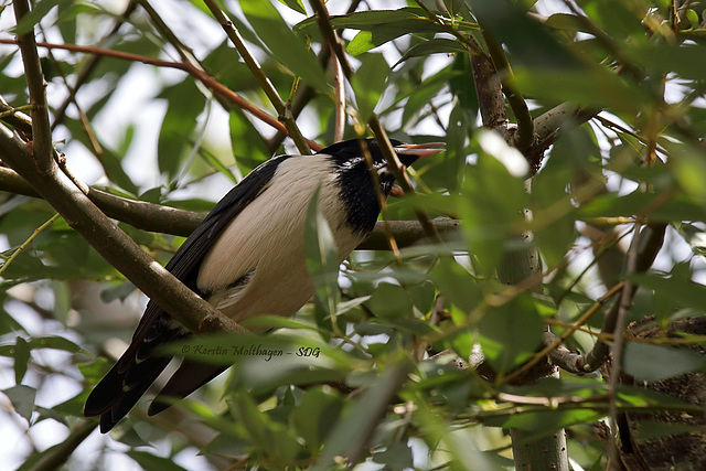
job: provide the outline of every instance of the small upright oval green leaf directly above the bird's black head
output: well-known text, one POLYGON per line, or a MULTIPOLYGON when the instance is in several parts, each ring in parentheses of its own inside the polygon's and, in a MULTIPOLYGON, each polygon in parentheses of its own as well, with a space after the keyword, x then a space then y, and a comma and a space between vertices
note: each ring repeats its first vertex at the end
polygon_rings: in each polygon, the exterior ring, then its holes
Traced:
POLYGON ((360 120, 366 122, 385 90, 389 66, 382 54, 365 54, 362 64, 351 77, 360 120))

